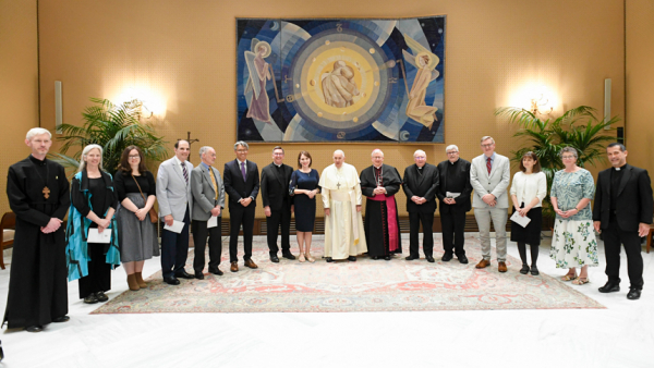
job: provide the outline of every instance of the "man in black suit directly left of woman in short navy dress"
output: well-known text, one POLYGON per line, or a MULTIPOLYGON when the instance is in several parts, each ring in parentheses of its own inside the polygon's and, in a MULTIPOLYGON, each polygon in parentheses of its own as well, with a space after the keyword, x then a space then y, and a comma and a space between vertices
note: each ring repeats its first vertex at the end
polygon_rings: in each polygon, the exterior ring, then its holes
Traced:
POLYGON ((283 164, 283 148, 272 148, 272 163, 262 170, 262 198, 268 229, 268 248, 270 260, 279 262, 277 252, 277 233, 281 225, 281 255, 283 258, 295 259, 291 254, 290 230, 293 197, 289 195, 289 184, 293 168, 283 164))

